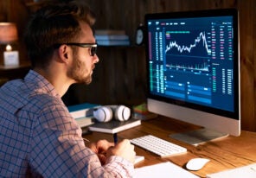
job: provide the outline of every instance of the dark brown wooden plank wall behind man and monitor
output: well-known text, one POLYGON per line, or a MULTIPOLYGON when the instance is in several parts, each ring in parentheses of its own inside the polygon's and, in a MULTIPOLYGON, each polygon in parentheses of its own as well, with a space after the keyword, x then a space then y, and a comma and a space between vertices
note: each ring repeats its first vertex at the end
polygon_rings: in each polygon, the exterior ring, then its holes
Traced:
MULTIPOLYGON (((6 2, 0 1, 1 4, 6 2)), ((29 11, 22 0, 10 0, 8 18, 25 22, 29 11), (15 5, 14 5, 15 4, 15 5), (19 11, 19 13, 17 12, 19 11), (27 10, 27 11, 26 11, 27 10)), ((241 123, 243 130, 256 131, 256 1, 254 0, 87 0, 97 15, 96 29, 125 29, 134 44, 135 29, 145 13, 236 8, 240 11, 241 123)), ((4 13, 2 13, 5 16, 4 13)), ((0 19, 1 15, 0 14, 0 19)), ((22 27, 20 26, 21 30, 22 27)), ((71 86, 67 104, 95 102, 101 105, 138 105, 145 99, 144 47, 99 48, 100 62, 90 86, 71 86)))

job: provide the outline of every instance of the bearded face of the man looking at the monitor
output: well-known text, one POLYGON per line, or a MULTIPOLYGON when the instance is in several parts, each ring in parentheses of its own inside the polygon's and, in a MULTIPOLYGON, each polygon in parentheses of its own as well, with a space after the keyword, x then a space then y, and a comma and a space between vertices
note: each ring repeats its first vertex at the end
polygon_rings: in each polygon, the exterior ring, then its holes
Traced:
MULTIPOLYGON (((92 29, 86 23, 80 23, 82 35, 80 43, 95 43, 92 29)), ((99 61, 97 54, 91 55, 91 48, 75 47, 73 50, 73 63, 68 68, 67 75, 76 83, 90 84, 92 82, 93 68, 99 61)))

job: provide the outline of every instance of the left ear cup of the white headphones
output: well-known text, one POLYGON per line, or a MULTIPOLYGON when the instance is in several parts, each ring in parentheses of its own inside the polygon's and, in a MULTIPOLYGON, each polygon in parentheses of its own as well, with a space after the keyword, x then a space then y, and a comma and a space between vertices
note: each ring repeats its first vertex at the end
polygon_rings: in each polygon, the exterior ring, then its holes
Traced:
POLYGON ((93 117, 99 122, 106 123, 112 119, 112 109, 107 106, 102 106, 93 110, 93 117))

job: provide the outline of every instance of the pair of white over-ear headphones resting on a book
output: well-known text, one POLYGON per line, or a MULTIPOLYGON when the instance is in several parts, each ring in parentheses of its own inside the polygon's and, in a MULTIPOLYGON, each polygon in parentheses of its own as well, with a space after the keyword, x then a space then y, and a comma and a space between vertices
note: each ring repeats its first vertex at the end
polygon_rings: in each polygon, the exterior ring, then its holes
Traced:
POLYGON ((118 121, 128 120, 131 116, 131 110, 125 105, 105 105, 97 107, 93 110, 93 117, 99 122, 108 122, 112 119, 114 113, 114 118, 118 121))

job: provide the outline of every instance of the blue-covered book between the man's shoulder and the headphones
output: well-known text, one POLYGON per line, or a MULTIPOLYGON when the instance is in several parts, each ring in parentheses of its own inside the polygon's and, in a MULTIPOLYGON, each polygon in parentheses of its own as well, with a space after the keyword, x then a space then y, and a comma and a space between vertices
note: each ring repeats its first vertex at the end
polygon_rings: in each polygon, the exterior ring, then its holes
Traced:
POLYGON ((100 105, 83 103, 79 105, 69 105, 67 109, 73 118, 93 117, 93 109, 100 105))

